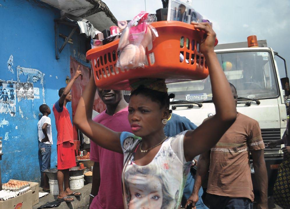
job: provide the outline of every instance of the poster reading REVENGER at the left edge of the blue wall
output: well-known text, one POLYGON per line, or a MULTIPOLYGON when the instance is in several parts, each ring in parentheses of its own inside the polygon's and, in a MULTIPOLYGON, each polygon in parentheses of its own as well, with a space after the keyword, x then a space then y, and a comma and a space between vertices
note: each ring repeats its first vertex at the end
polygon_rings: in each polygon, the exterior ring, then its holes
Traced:
POLYGON ((0 113, 15 116, 15 82, 0 80, 0 113))

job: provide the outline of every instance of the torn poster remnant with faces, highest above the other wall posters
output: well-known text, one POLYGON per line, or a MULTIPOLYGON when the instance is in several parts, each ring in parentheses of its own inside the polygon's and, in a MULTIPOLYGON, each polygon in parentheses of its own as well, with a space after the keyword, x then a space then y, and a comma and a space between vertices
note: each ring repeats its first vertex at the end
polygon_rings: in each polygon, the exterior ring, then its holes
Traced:
POLYGON ((29 83, 40 82, 41 84, 43 83, 43 73, 40 72, 39 70, 17 66, 18 82, 20 82, 20 80, 24 82, 23 77, 26 78, 25 82, 29 82, 29 83))

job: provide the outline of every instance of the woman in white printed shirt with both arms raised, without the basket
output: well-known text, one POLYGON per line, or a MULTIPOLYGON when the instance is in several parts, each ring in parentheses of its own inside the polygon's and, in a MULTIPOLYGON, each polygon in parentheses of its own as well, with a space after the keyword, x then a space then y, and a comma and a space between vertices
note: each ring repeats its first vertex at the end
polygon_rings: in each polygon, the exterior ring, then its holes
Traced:
POLYGON ((93 76, 79 100, 74 117, 78 129, 101 147, 124 154, 124 208, 179 208, 192 159, 213 147, 236 119, 231 89, 214 52, 215 32, 209 23, 192 24, 205 32, 200 51, 216 98, 216 114, 197 129, 165 136, 169 99, 174 95, 167 94, 162 79, 131 84, 128 120, 133 134, 114 132, 91 120, 97 89, 93 76))

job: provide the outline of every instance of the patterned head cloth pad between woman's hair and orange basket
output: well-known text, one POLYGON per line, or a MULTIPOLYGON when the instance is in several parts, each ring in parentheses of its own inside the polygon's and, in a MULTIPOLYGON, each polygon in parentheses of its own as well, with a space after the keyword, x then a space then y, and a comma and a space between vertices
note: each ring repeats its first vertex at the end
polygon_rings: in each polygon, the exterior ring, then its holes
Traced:
POLYGON ((130 80, 131 93, 141 85, 148 89, 167 93, 165 79, 160 78, 138 78, 130 80))

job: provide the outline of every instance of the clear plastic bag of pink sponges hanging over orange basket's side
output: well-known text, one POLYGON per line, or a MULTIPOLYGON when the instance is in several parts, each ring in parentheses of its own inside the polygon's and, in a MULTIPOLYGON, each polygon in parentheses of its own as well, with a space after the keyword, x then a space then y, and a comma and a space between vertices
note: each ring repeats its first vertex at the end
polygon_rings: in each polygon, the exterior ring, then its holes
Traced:
POLYGON ((141 12, 123 29, 118 46, 116 66, 121 69, 143 67, 146 62, 146 48, 152 48, 152 41, 158 33, 149 23, 154 18, 147 12, 141 12))

